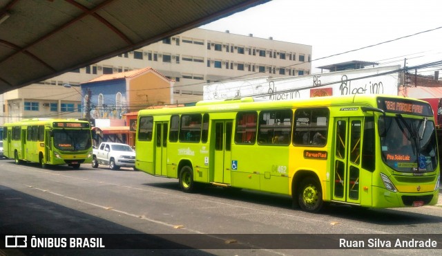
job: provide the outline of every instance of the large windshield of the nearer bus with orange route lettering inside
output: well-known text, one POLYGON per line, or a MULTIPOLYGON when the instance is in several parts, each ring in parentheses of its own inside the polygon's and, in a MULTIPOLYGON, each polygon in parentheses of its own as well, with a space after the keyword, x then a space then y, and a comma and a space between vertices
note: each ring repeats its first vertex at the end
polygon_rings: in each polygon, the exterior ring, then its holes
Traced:
POLYGON ((437 165, 436 130, 427 118, 379 119, 383 162, 398 172, 433 172, 437 165))

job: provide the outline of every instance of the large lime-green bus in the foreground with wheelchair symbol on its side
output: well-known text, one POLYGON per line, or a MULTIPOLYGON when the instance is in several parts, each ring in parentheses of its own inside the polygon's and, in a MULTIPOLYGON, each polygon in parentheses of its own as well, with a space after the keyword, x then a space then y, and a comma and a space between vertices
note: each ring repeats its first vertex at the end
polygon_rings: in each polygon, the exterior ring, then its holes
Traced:
POLYGON ((430 104, 388 95, 252 98, 138 113, 136 167, 195 183, 369 208, 434 205, 439 154, 430 104))

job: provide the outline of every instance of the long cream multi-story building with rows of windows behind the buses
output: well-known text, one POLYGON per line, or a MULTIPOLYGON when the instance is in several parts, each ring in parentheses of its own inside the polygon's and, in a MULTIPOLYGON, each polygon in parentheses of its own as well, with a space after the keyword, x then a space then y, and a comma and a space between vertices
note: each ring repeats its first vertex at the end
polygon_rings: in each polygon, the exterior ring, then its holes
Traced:
MULTIPOLYGON (((39 84, 4 93, 3 122, 37 117, 81 118, 79 84, 103 74, 150 66, 175 80, 174 101, 186 104, 202 100, 206 82, 309 75, 310 61, 311 46, 308 45, 194 28, 39 84)), ((151 91, 155 93, 155 89, 151 91)))

